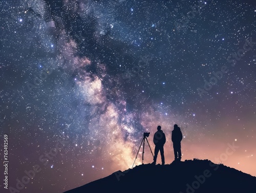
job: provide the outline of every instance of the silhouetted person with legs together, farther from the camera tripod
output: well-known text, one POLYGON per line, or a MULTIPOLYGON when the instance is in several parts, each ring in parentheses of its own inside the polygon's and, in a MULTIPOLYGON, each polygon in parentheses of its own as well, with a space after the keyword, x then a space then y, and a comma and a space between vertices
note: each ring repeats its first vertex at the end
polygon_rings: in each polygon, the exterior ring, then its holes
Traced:
POLYGON ((181 142, 182 140, 182 133, 180 131, 180 127, 177 124, 174 125, 174 130, 172 131, 172 141, 174 144, 174 157, 175 160, 181 160, 181 142))

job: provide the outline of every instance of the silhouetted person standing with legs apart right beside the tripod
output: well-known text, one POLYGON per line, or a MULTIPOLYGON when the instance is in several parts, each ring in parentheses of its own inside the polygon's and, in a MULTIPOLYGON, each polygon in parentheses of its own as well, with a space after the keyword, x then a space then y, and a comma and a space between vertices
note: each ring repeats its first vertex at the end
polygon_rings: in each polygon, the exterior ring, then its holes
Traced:
POLYGON ((154 143, 155 143, 155 156, 154 156, 154 162, 152 164, 156 164, 157 161, 157 154, 160 150, 161 159, 162 159, 162 165, 164 165, 164 154, 163 154, 163 145, 166 141, 165 134, 161 130, 161 126, 157 126, 157 132, 154 135, 154 143))

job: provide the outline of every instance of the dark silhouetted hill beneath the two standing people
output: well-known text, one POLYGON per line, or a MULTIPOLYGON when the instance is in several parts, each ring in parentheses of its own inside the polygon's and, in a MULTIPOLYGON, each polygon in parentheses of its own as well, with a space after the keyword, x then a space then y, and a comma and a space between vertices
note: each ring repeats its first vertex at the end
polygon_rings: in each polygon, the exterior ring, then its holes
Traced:
POLYGON ((256 192, 256 177, 209 160, 142 164, 65 193, 85 192, 256 192))

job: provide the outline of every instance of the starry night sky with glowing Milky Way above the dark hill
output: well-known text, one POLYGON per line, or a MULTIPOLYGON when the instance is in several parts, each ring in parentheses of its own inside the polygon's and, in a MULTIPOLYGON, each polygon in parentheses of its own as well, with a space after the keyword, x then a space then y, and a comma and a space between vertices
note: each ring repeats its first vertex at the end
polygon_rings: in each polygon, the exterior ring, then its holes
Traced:
MULTIPOLYGON (((174 124, 183 133, 183 161, 209 159, 256 176, 254 0, 25 0, 0 7, 9 187, 34 165, 40 171, 20 192, 63 192, 131 168, 144 132, 154 151, 157 125, 169 164, 174 124), (227 155, 230 145, 236 148, 227 155)), ((142 148, 136 165, 141 157, 142 148)), ((144 163, 152 161, 146 144, 144 163)))

